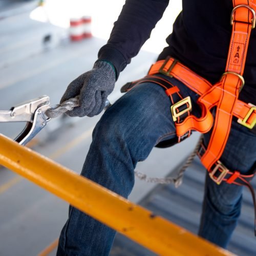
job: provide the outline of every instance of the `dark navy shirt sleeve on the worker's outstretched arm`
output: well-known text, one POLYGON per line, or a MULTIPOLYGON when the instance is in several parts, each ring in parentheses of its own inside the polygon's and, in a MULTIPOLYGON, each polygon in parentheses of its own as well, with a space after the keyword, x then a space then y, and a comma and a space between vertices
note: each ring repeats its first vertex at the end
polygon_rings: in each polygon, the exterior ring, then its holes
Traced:
POLYGON ((168 3, 169 0, 126 0, 107 44, 99 50, 98 60, 113 63, 118 77, 150 38, 168 3))

